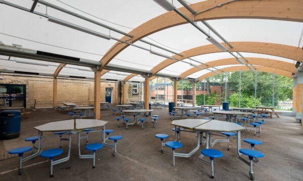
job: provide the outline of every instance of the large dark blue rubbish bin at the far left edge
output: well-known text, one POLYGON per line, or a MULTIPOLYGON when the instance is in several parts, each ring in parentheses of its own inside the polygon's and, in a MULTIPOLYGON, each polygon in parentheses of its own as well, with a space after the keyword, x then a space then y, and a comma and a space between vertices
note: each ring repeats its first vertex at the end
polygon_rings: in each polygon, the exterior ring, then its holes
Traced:
POLYGON ((21 111, 7 110, 0 113, 0 139, 13 139, 20 136, 21 111))

